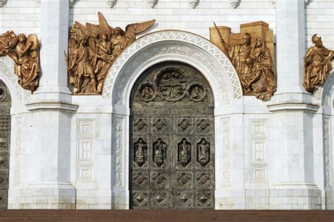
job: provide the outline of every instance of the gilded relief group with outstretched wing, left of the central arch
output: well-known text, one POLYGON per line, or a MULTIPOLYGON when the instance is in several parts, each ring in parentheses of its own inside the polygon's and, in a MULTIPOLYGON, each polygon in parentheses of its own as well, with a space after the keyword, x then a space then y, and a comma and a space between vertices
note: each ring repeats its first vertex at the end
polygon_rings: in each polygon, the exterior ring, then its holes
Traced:
POLYGON ((155 20, 127 25, 125 31, 111 27, 98 13, 99 25, 75 22, 70 27, 66 62, 75 94, 100 94, 109 68, 118 55, 136 40, 155 20))

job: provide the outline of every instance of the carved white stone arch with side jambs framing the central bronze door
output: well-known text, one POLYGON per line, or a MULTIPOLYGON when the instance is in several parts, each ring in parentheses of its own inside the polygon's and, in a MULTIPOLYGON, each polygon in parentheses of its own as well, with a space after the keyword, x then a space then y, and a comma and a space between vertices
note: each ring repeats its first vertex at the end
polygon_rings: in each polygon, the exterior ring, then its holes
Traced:
POLYGON ((237 72, 225 54, 203 37, 173 30, 154 32, 138 39, 120 54, 104 83, 103 97, 111 99, 113 105, 111 188, 114 209, 129 208, 130 91, 144 70, 166 61, 178 61, 197 68, 211 85, 215 100, 216 200, 223 198, 219 190, 231 189, 230 122, 233 112, 237 113, 232 110, 242 107, 242 87, 237 72), (228 124, 223 122, 226 118, 228 124), (222 170, 228 176, 223 176, 222 170))

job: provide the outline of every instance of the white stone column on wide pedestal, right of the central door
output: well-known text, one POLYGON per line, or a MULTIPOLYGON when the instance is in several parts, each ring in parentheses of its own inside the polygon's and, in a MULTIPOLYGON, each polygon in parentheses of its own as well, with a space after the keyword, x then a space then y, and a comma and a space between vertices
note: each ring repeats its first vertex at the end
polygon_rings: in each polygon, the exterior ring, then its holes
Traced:
POLYGON ((277 91, 268 105, 271 209, 321 209, 314 183, 313 117, 318 106, 304 91, 304 1, 276 1, 277 91))

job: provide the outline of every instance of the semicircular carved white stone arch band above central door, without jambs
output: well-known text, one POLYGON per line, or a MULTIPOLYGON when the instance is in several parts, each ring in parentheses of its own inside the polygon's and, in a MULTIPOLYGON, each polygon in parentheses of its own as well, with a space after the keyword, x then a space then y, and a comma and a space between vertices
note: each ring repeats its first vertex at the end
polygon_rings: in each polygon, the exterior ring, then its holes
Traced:
MULTIPOLYGON (((189 32, 173 30, 147 34, 147 36, 138 39, 125 49, 113 63, 113 67, 106 76, 103 96, 111 98, 111 92, 113 91, 113 103, 123 105, 123 94, 128 81, 142 63, 155 56, 173 54, 190 57, 196 63, 209 68, 211 76, 215 79, 214 83, 219 85, 218 93, 221 93, 221 100, 230 101, 232 95, 235 99, 242 97, 242 89, 237 73, 230 60, 226 58, 221 50, 202 37, 189 32), (136 63, 130 63, 131 60, 136 60, 136 63), (120 75, 119 72, 123 73, 120 75), (118 79, 117 83, 113 82, 116 78, 118 79), (228 79, 230 82, 225 82, 228 79), (113 89, 113 86, 115 89, 113 89), (222 92, 221 88, 227 88, 229 91, 222 92)), ((222 104, 225 102, 221 101, 222 104)))

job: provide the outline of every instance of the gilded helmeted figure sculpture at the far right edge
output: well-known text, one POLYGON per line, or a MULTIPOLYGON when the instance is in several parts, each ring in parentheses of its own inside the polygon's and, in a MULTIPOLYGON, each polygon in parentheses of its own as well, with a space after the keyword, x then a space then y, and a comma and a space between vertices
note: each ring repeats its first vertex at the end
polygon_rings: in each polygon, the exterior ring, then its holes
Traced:
POLYGON ((318 89, 318 85, 325 83, 332 70, 330 60, 334 58, 334 51, 323 46, 321 37, 314 34, 312 42, 314 46, 309 47, 304 56, 304 87, 311 93, 318 89))

